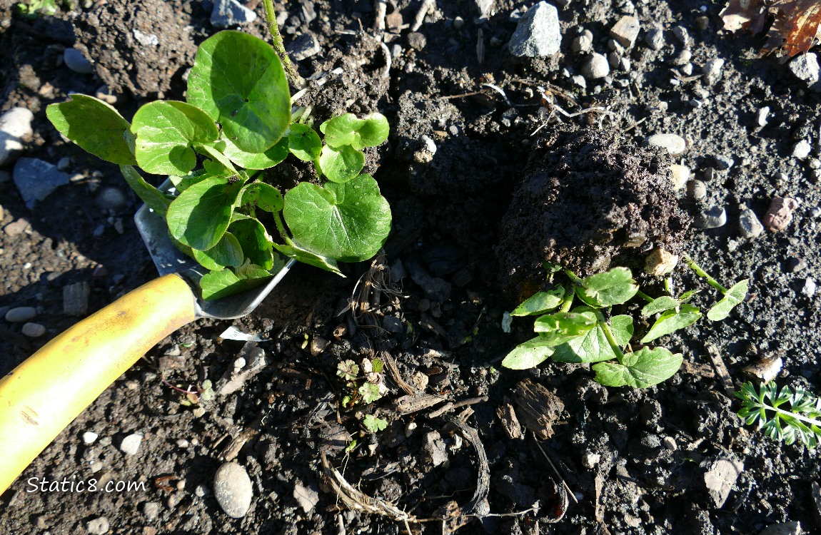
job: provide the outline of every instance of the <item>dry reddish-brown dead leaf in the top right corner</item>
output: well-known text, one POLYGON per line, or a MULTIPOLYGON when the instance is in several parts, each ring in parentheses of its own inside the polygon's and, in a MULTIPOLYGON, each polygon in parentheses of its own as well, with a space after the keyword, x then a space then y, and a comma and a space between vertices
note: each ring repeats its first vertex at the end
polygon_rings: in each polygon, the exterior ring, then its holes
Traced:
POLYGON ((818 0, 731 0, 720 13, 724 30, 767 31, 763 53, 780 51, 782 62, 805 53, 819 39, 818 0), (769 26, 769 27, 768 27, 769 26))

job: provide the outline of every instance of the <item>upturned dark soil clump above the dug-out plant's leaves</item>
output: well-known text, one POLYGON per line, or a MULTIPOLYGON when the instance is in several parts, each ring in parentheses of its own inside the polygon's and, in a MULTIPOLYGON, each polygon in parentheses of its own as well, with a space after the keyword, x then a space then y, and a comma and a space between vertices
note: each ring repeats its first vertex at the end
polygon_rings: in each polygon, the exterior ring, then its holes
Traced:
POLYGON ((580 277, 615 265, 638 274, 653 249, 681 254, 690 217, 666 155, 603 130, 557 132, 539 142, 525 173, 496 248, 512 295, 541 286, 544 262, 580 277))

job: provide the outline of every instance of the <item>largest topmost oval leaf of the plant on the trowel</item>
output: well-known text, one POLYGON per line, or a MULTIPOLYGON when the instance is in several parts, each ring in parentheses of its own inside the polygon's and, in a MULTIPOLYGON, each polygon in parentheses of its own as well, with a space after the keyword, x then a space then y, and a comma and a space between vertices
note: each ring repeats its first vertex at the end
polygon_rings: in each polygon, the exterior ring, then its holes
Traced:
POLYGON ((268 43, 243 32, 221 31, 200 44, 186 95, 248 153, 271 148, 291 122, 282 62, 268 43))

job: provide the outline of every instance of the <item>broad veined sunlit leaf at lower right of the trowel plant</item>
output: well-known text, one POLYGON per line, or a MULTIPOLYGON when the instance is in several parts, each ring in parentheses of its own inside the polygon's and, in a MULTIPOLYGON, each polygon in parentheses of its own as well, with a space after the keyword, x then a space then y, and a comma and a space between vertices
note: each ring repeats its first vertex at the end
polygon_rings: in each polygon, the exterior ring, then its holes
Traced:
POLYGON ((324 188, 302 182, 285 194, 282 215, 297 243, 342 262, 373 257, 391 230, 391 208, 370 175, 324 188))

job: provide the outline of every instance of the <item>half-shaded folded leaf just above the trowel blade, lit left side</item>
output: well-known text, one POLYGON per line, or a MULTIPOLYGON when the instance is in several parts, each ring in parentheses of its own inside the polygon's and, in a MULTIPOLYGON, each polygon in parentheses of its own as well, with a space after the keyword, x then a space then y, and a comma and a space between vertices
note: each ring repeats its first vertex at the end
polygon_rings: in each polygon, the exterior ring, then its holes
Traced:
POLYGON ((191 249, 211 249, 228 228, 241 182, 229 183, 223 176, 190 185, 168 206, 168 231, 191 249))

